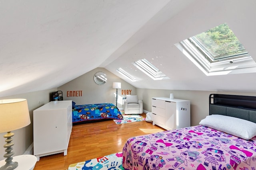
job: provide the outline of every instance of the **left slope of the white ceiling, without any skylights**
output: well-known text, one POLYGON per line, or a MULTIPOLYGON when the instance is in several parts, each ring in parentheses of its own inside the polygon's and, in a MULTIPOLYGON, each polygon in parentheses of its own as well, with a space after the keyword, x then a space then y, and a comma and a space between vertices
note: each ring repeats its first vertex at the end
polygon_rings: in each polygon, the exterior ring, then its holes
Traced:
POLYGON ((100 66, 170 0, 0 0, 0 97, 100 66))

